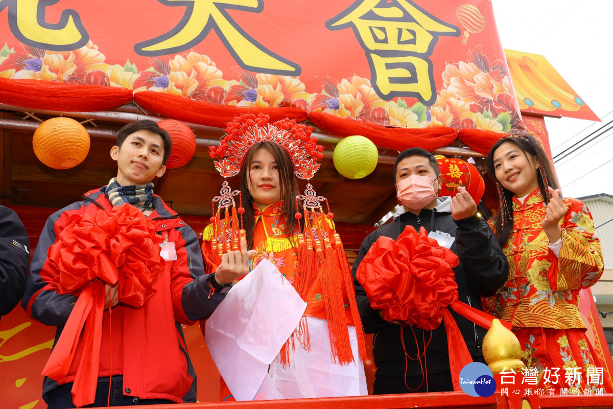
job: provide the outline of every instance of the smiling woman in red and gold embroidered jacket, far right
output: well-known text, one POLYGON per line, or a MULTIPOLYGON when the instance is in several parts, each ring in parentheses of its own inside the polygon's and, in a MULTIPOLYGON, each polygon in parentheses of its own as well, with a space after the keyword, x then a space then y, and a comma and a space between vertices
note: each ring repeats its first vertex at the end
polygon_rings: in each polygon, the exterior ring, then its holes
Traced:
POLYGON ((510 269, 509 280, 486 304, 512 324, 539 387, 613 391, 611 380, 596 371, 603 365, 579 315, 579 291, 603 273, 590 211, 562 197, 549 158, 532 136, 498 140, 487 168, 500 201, 493 229, 510 269))

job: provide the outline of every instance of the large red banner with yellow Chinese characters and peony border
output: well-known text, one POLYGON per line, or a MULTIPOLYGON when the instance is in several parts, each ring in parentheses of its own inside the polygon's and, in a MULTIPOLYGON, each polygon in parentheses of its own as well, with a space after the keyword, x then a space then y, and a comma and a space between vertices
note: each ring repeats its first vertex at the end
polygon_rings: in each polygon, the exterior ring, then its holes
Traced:
POLYGON ((0 77, 400 128, 523 128, 489 0, 52 3, 0 2, 0 77))

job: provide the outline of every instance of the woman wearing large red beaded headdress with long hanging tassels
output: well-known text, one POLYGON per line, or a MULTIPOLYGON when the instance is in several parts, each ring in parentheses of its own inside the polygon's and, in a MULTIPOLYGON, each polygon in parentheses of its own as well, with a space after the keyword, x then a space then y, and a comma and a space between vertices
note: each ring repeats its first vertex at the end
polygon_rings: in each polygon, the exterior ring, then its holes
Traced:
MULTIPOLYGON (((268 259, 307 303, 268 370, 280 398, 367 394, 360 362, 364 338, 333 215, 323 213, 326 199, 316 196, 310 184, 300 195, 296 180, 313 177, 323 148, 311 128, 293 120, 268 123, 263 114, 241 115, 227 124, 226 132, 221 146, 211 147, 211 157, 218 159, 215 166, 222 176, 241 172, 240 192, 224 182, 221 195, 213 199, 219 206, 202 245, 207 269, 215 270, 244 237, 255 250, 250 269, 268 259), (232 196, 240 197, 238 208, 232 196), (309 359, 322 360, 319 373, 303 367, 309 359)), ((221 400, 234 399, 232 392, 222 380, 221 400)))

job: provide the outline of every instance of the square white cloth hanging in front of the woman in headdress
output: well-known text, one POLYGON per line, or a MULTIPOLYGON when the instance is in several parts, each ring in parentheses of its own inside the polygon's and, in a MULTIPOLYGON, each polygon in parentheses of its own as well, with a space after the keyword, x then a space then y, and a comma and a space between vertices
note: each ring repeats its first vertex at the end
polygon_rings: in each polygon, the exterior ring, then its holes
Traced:
POLYGON ((307 303, 269 261, 226 294, 207 320, 205 342, 236 400, 275 399, 268 365, 294 332, 307 303))

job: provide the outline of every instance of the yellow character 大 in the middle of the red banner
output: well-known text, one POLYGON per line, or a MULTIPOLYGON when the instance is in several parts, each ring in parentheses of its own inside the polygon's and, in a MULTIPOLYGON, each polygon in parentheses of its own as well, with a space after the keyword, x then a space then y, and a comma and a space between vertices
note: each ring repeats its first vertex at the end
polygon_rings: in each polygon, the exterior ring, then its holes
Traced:
POLYGON ((166 0, 167 6, 186 7, 185 16, 162 36, 134 46, 139 55, 180 53, 196 46, 215 30, 235 61, 246 70, 278 75, 299 75, 300 66, 268 50, 249 36, 226 12, 226 8, 261 12, 257 0, 166 0), (172 4, 176 2, 176 4, 172 4))

